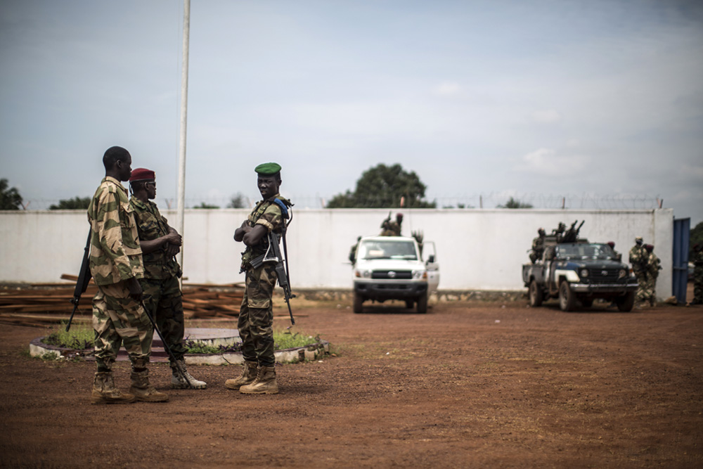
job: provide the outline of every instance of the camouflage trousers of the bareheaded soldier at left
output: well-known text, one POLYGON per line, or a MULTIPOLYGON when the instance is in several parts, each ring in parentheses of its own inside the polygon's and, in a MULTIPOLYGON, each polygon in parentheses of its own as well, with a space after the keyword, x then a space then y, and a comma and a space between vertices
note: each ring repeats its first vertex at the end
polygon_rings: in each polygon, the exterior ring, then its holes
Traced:
POLYGON ((141 304, 129 296, 125 281, 98 285, 93 297, 93 332, 98 369, 112 368, 120 345, 124 345, 133 365, 148 363, 153 327, 141 304))

